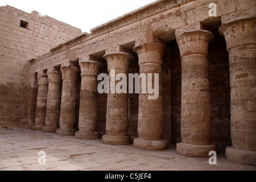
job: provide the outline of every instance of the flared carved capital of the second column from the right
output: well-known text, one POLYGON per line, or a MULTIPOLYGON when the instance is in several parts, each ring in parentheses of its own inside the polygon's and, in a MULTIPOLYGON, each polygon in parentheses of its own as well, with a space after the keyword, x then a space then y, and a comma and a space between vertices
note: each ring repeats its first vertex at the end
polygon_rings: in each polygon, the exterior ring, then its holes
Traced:
POLYGON ((213 34, 206 30, 185 31, 176 36, 180 49, 180 57, 191 54, 208 56, 208 44, 213 39, 213 34))

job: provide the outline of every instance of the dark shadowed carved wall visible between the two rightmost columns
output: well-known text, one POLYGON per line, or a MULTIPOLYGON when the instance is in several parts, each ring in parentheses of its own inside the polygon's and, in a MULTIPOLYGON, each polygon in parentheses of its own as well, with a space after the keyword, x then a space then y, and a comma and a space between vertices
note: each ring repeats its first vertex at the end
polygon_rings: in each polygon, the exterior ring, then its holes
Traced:
POLYGON ((224 38, 217 30, 213 34, 208 56, 212 142, 216 143, 218 150, 225 150, 231 144, 229 56, 224 38))

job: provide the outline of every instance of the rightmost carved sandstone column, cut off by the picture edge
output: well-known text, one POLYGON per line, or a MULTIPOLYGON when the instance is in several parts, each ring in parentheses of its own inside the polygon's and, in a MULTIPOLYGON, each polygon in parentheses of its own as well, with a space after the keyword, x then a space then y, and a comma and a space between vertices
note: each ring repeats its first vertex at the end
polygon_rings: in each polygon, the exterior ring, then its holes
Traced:
POLYGON ((256 19, 222 24, 229 51, 232 145, 226 158, 256 166, 256 19))

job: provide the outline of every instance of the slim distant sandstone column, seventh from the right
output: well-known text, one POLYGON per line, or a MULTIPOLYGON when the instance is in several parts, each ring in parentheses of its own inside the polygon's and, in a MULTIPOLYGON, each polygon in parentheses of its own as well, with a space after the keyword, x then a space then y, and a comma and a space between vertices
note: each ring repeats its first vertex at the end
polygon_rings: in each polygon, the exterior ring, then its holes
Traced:
POLYGON ((56 133, 60 120, 61 72, 59 68, 48 69, 48 94, 46 107, 46 126, 43 131, 56 133))

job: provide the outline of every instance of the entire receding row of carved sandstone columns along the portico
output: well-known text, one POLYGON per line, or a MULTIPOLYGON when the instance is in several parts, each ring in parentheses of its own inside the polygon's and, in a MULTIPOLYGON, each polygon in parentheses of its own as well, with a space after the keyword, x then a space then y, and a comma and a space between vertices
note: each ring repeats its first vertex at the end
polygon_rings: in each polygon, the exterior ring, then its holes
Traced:
MULTIPOLYGON (((224 24, 220 32, 225 36, 230 61, 231 134, 233 147, 226 155, 245 153, 247 161, 255 161, 255 18, 236 20, 224 24), (248 152, 244 152, 248 151, 248 152), (235 152, 235 154, 234 154, 235 152)), ((208 78, 208 44, 213 34, 205 30, 187 31, 176 36, 180 49, 181 79, 181 143, 177 154, 193 157, 208 157, 216 151, 210 143, 210 92, 208 78)), ((138 53, 140 73, 159 74, 159 97, 148 100, 148 93, 139 93, 138 138, 134 146, 144 150, 163 150, 167 141, 163 134, 162 59, 165 47, 160 43, 144 43, 134 47, 138 53)), ((108 61, 109 81, 118 73, 128 75, 129 61, 133 56, 126 52, 110 52, 104 55, 108 61), (110 70, 115 69, 115 75, 110 70)), ((33 129, 62 135, 76 135, 81 139, 98 139, 97 133, 97 75, 101 63, 94 60, 80 61, 81 97, 79 131, 75 133, 76 92, 79 68, 69 63, 38 74, 38 103, 33 129), (62 75, 62 92, 60 89, 62 75), (46 102, 46 98, 47 102, 46 102), (60 107, 60 109, 59 109, 60 107), (60 112, 59 112, 60 110, 60 112), (43 113, 46 113, 45 115, 43 113), (57 129, 58 122, 60 129, 57 129)), ((115 81, 115 85, 117 82, 115 81)), ((154 86, 154 80, 152 80, 154 86)), ((115 86, 114 85, 114 86, 115 86)), ((109 84, 109 87, 111 85, 109 84)), ((111 90, 111 88, 110 88, 111 90)), ((106 144, 129 144, 127 93, 108 93, 106 111, 106 144)), ((244 161, 241 163, 245 163, 244 161)))

